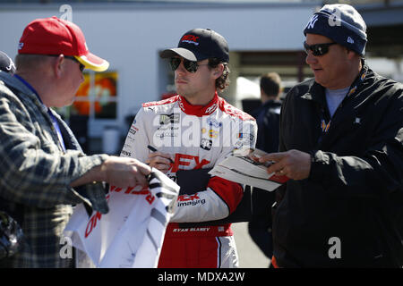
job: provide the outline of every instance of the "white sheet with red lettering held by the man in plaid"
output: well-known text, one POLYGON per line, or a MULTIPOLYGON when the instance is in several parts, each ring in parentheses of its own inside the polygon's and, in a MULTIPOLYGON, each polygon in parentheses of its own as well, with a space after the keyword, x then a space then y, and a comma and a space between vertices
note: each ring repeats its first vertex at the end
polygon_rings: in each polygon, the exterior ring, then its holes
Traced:
MULTIPOLYGON (((75 208, 64 234, 96 267, 157 267, 172 216, 168 206, 176 206, 179 186, 162 172, 153 172, 159 173, 167 188, 112 187, 107 195, 108 214, 93 212, 89 217, 82 204, 75 208)), ((82 253, 80 257, 78 267, 90 267, 82 253)))

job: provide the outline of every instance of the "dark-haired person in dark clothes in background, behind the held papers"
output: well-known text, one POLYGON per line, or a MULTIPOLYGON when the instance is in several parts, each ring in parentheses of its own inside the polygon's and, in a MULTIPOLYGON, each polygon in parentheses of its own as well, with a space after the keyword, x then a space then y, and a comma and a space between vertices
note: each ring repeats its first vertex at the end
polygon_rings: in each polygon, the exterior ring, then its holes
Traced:
MULTIPOLYGON (((256 148, 268 153, 278 152, 281 108, 279 97, 282 92, 279 73, 263 74, 260 86, 262 105, 252 113, 258 126, 256 148)), ((264 255, 271 259, 273 256, 271 205, 275 202, 275 193, 253 187, 252 200, 253 217, 248 223, 248 231, 264 255)))

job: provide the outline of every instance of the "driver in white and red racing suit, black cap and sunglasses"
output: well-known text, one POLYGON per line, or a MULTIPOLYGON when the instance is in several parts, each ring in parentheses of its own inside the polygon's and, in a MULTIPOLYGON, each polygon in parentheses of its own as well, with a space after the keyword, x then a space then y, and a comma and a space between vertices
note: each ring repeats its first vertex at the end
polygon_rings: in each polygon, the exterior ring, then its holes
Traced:
MULTIPOLYGON (((169 58, 178 95, 142 105, 121 156, 147 162, 176 180, 180 170, 212 168, 234 148, 254 147, 257 127, 253 117, 227 104, 217 92, 227 86, 229 73, 225 38, 211 29, 192 29, 177 48, 160 56, 169 58)), ((200 185, 191 172, 187 179, 200 185)), ((230 223, 202 227, 179 223, 226 218, 243 194, 240 184, 214 176, 202 189, 180 195, 167 226, 159 267, 237 267, 230 223)))

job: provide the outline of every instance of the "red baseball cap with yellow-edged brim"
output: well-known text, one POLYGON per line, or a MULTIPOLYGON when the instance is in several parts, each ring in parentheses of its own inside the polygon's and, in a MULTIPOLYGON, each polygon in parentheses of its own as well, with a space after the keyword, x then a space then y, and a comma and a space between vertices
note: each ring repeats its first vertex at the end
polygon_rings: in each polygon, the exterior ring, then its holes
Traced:
POLYGON ((31 21, 22 33, 18 54, 71 55, 93 71, 109 67, 106 60, 90 53, 79 26, 56 16, 31 21))

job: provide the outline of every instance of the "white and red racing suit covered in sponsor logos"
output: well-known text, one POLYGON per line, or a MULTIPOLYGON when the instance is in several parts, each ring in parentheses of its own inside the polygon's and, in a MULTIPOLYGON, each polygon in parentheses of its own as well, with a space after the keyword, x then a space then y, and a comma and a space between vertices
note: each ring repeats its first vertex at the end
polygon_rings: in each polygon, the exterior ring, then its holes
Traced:
MULTIPOLYGON (((175 96, 142 105, 124 142, 121 156, 142 162, 148 145, 171 155, 167 176, 178 170, 211 168, 236 147, 254 147, 257 127, 252 116, 236 109, 217 93, 209 105, 190 105, 175 96)), ((197 183, 197 181, 195 181, 197 183)), ((180 227, 178 223, 219 220, 235 211, 244 189, 238 183, 211 177, 207 187, 178 197, 176 213, 167 226, 159 267, 237 267, 230 223, 180 227)))

